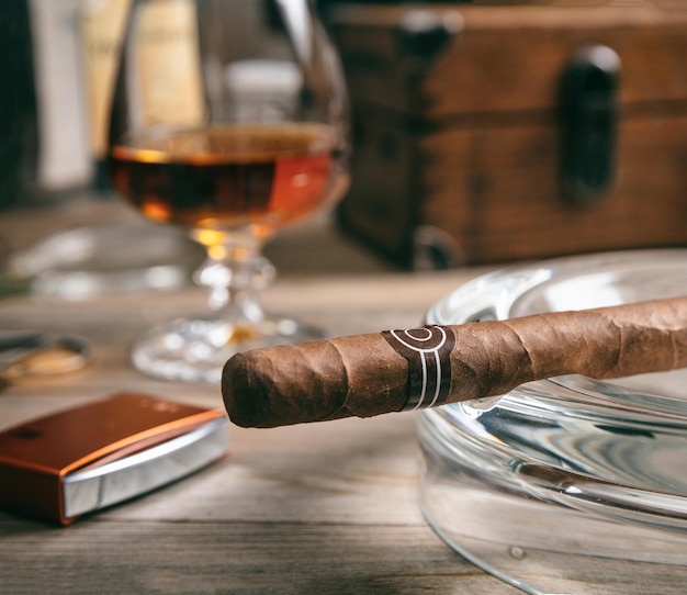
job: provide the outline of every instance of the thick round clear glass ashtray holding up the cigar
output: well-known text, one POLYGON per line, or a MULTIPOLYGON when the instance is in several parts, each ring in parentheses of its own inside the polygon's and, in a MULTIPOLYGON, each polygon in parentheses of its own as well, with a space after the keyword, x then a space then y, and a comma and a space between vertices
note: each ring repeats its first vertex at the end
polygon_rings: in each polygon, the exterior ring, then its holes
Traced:
MULTIPOLYGON (((687 294, 687 250, 638 250, 496 271, 430 324, 687 294)), ((419 416, 420 502, 433 530, 533 594, 684 593, 687 370, 568 375, 419 416)))

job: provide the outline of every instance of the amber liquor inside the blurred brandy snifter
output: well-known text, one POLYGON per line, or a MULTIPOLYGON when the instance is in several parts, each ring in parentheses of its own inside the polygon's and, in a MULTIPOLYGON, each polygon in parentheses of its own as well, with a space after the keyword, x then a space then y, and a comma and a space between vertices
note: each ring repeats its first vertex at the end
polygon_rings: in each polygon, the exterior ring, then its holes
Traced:
POLYGON ((319 124, 222 125, 115 145, 115 187, 147 217, 193 228, 275 228, 330 197, 337 158, 319 124))

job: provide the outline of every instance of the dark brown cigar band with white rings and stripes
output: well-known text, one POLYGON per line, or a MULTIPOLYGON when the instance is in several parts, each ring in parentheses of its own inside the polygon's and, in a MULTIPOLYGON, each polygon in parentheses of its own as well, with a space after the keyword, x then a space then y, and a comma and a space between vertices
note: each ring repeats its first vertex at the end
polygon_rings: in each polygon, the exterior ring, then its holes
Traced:
POLYGON ((408 362, 408 401, 403 411, 442 405, 451 389, 450 355, 455 336, 440 326, 384 330, 382 336, 408 362))

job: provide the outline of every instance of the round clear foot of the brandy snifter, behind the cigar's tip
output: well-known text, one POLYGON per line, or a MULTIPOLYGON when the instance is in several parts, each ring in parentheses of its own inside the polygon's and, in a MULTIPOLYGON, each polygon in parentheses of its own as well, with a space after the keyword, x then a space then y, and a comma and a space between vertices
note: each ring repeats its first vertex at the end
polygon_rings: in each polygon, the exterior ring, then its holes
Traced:
POLYGON ((182 318, 144 335, 132 349, 132 361, 151 377, 219 384, 224 364, 239 351, 323 337, 318 328, 291 318, 266 318, 250 325, 182 318))

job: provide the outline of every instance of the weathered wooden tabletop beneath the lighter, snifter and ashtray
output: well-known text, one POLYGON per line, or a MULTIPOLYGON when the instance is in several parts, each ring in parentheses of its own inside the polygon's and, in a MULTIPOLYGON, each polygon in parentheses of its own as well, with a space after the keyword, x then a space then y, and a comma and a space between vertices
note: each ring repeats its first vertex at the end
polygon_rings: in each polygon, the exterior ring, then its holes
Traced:
MULTIPOLYGON (((47 211, 0 213, 0 236, 15 248, 66 224, 47 211)), ((70 224, 82 221, 77 212, 88 209, 67 210, 70 224)), ((482 272, 393 271, 329 232, 277 239, 271 254, 285 272, 266 292, 266 305, 339 335, 416 325, 428 305, 482 272), (320 268, 308 268, 304 254, 317 254, 320 268)), ((219 405, 216 386, 153 380, 128 361, 145 328, 200 311, 204 300, 194 288, 0 300, 0 328, 78 333, 95 352, 81 372, 4 389, 0 430, 120 391, 219 405)), ((0 513, 0 592, 517 593, 425 524, 413 414, 232 427, 230 441, 226 460, 67 528, 0 513)))

